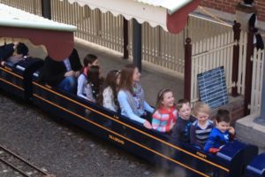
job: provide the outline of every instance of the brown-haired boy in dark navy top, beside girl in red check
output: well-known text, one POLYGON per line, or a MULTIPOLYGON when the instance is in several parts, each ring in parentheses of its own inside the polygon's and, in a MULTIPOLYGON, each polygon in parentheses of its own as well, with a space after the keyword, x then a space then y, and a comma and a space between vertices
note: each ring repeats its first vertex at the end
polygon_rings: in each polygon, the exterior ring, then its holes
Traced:
POLYGON ((178 118, 170 135, 171 141, 190 142, 190 128, 195 118, 191 115, 191 106, 186 99, 178 100, 178 118))

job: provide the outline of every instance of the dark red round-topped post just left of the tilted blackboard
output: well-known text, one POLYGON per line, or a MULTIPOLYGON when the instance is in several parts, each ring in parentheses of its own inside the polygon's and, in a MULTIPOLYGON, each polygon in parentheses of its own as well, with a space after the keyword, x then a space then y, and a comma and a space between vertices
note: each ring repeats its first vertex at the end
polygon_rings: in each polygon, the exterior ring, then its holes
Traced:
POLYGON ((184 98, 191 101, 192 88, 192 40, 186 38, 185 44, 185 72, 184 72, 184 98))

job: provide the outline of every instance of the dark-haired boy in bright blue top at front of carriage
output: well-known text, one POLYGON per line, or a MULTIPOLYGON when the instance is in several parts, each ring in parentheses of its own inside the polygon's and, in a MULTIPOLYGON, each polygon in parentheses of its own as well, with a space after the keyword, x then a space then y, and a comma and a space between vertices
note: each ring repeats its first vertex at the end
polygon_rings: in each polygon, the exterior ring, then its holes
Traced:
POLYGON ((227 110, 219 110, 216 115, 216 127, 211 131, 208 141, 204 146, 204 150, 216 153, 226 142, 233 140, 235 129, 230 127, 230 116, 227 110))

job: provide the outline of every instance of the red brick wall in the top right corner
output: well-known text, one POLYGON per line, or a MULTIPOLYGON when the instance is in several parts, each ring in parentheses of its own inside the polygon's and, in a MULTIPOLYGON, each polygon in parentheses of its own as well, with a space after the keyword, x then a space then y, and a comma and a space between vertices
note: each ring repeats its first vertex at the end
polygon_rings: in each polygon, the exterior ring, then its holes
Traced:
MULTIPOLYGON (((242 0, 202 0, 201 6, 216 9, 222 12, 235 13, 235 6, 242 0)), ((255 0, 254 5, 258 10, 258 19, 265 21, 265 0, 255 0)))

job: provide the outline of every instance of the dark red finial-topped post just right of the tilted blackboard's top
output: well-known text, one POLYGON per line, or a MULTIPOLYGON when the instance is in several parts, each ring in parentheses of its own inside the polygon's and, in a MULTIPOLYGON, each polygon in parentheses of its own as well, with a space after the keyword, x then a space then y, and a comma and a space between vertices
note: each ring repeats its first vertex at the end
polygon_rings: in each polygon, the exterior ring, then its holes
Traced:
POLYGON ((231 95, 239 96, 237 83, 239 81, 239 39, 240 39, 240 24, 237 21, 234 21, 233 25, 234 31, 234 41, 238 43, 233 46, 233 63, 232 63, 232 82, 235 83, 235 86, 232 87, 231 95))

